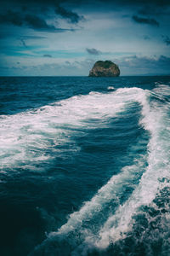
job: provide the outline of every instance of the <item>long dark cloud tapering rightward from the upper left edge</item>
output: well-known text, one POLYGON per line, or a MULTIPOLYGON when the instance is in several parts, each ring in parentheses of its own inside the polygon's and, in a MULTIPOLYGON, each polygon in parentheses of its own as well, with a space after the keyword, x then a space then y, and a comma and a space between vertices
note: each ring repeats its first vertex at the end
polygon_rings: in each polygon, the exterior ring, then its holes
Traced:
MULTIPOLYGON (((19 12, 8 10, 6 14, 0 15, 0 24, 12 24, 14 26, 28 26, 36 31, 42 32, 62 32, 65 29, 56 28, 53 25, 48 25, 46 20, 37 15, 22 15, 19 12)), ((66 29, 66 31, 69 29, 66 29)), ((72 31, 72 30, 71 30, 72 31)))

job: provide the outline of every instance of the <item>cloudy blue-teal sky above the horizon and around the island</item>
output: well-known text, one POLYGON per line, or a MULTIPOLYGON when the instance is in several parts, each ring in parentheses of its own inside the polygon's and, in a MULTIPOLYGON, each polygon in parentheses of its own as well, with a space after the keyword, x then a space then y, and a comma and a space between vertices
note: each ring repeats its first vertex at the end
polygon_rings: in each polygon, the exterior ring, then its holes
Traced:
POLYGON ((170 0, 2 0, 0 76, 170 74, 170 0))

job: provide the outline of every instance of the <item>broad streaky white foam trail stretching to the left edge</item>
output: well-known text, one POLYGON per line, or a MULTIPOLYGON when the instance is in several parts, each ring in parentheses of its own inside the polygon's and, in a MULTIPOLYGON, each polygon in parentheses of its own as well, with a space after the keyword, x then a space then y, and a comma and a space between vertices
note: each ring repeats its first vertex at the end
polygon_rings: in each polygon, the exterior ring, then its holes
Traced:
POLYGON ((115 95, 91 92, 87 96, 73 96, 32 111, 1 116, 2 172, 17 167, 40 171, 38 163, 52 159, 51 152, 62 154, 65 150, 78 150, 71 136, 81 134, 87 127, 105 126, 107 119, 122 111, 124 103, 121 92, 115 95), (101 119, 103 124, 99 122, 101 119))

